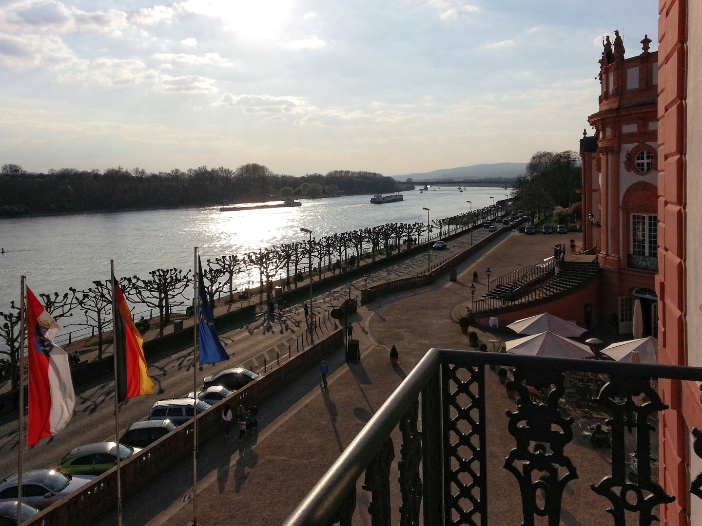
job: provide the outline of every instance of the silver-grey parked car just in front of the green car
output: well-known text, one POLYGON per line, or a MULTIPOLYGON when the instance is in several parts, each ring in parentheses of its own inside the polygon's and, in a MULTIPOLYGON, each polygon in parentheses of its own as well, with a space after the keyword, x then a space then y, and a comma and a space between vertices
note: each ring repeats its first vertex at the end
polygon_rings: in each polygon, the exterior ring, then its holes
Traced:
MULTIPOLYGON (((94 478, 93 475, 67 475, 53 469, 25 471, 22 473, 22 503, 43 510, 94 478)), ((0 502, 16 500, 17 475, 11 475, 0 482, 0 502)))

